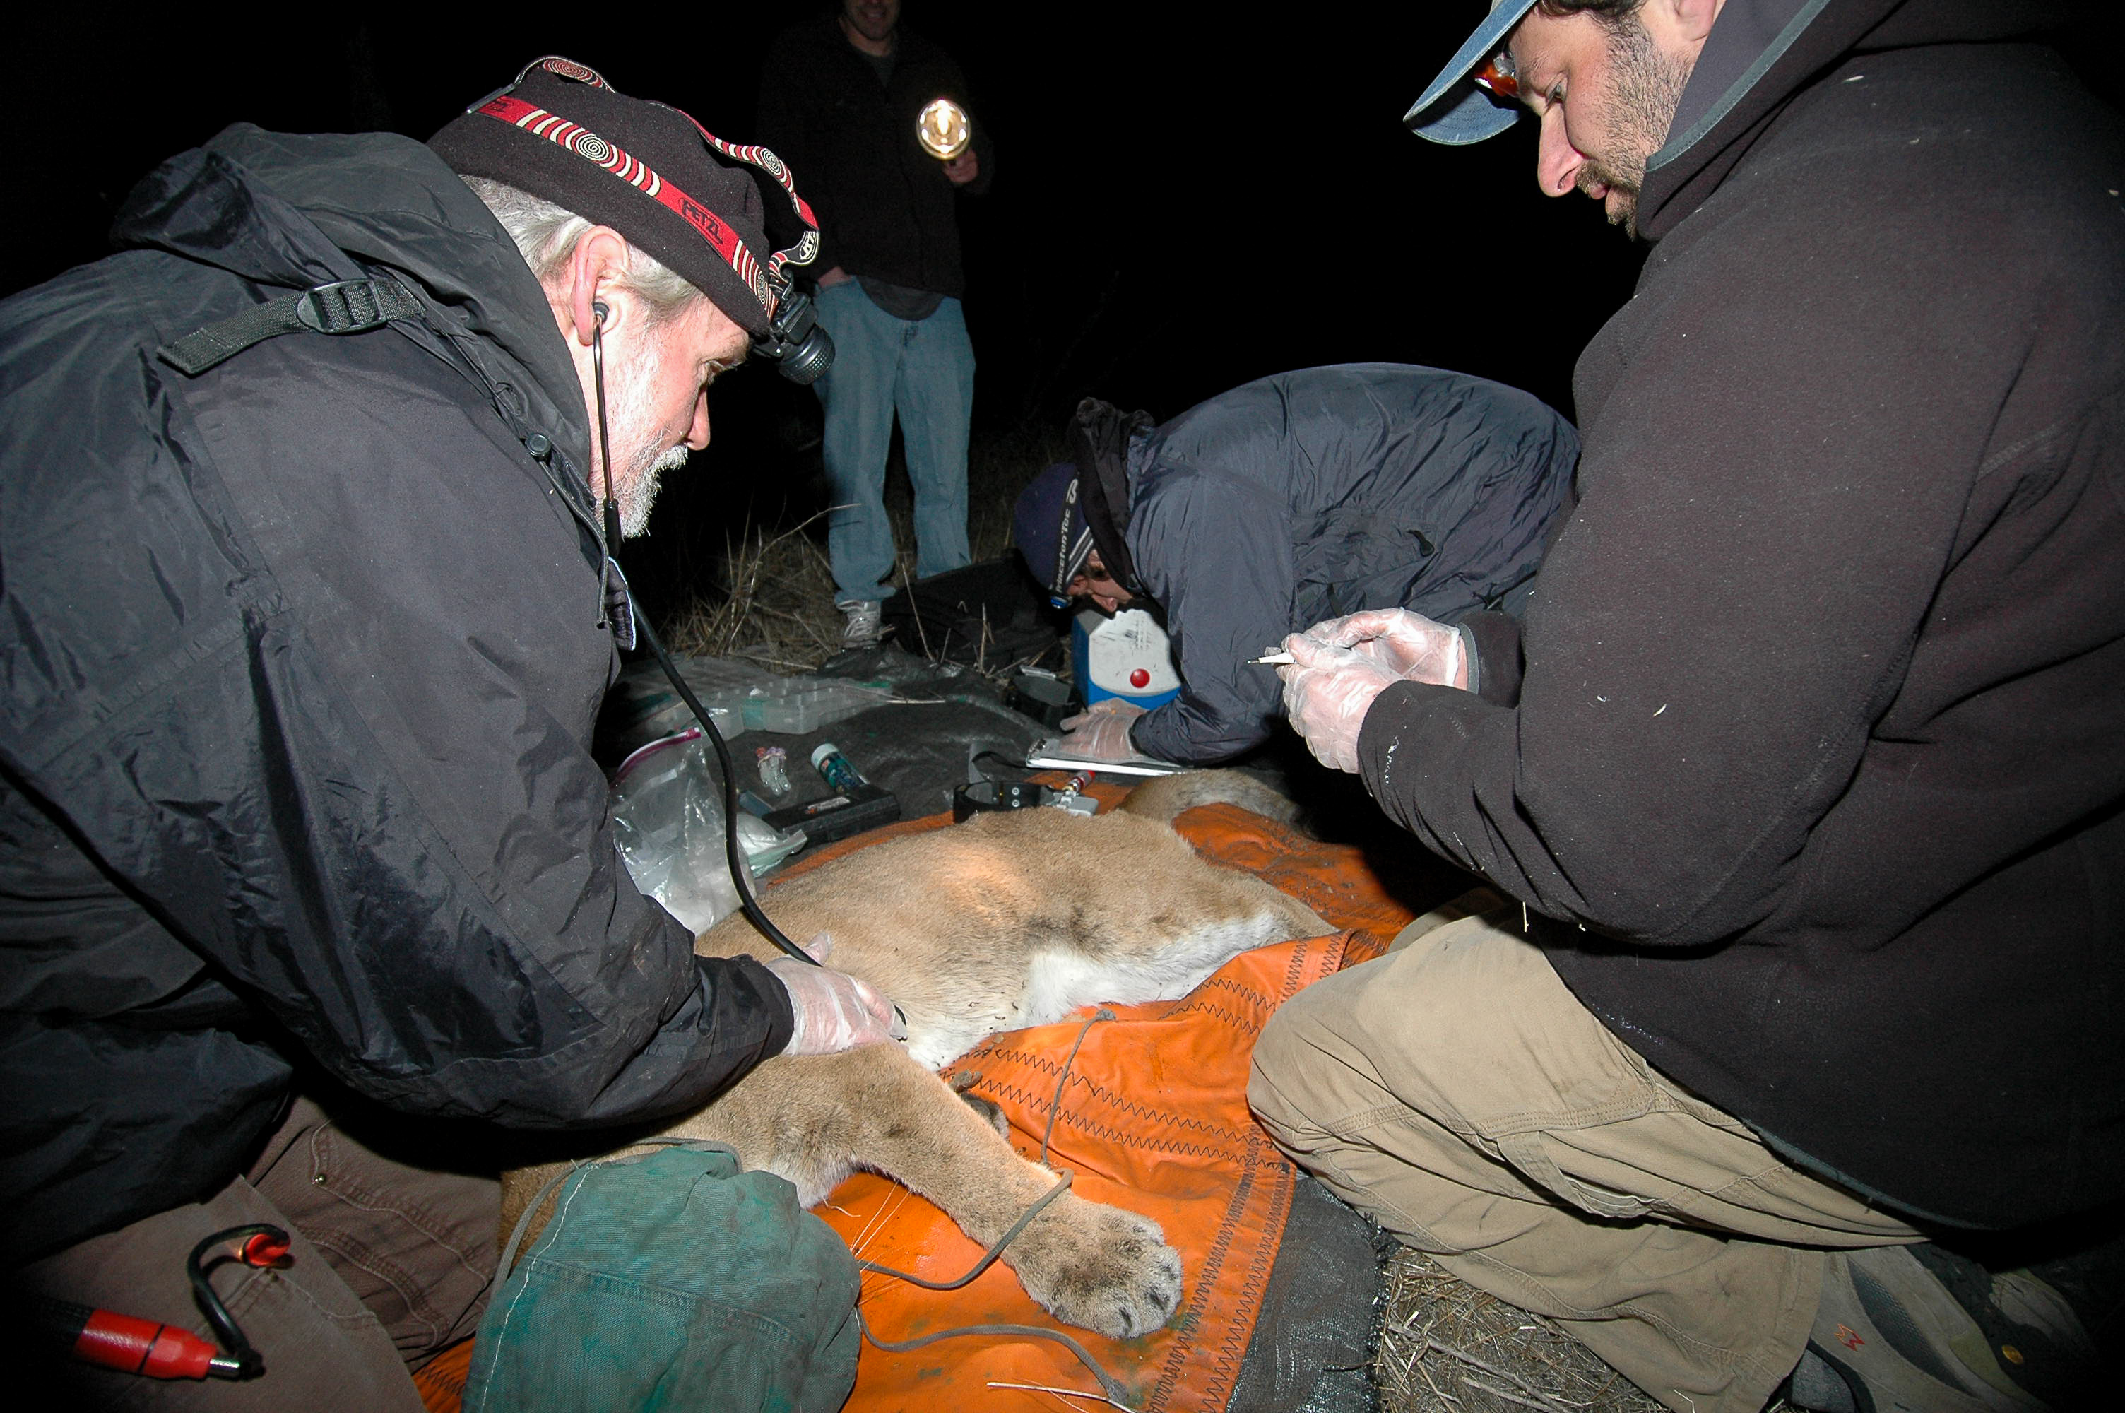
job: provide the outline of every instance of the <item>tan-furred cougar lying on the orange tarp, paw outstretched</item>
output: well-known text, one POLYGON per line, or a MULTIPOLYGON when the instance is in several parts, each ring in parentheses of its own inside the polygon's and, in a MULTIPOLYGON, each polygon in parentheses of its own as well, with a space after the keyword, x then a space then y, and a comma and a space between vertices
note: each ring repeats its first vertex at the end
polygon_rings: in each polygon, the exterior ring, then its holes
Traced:
MULTIPOLYGON (((818 1203, 873 1169, 937 1203, 988 1245, 1056 1177, 1012 1152, 937 1077, 988 1035, 1094 1001, 1177 999, 1254 946, 1330 931, 1269 884, 1194 856, 1171 820, 1213 801, 1277 807, 1245 776, 1198 771, 1139 786, 1124 812, 980 814, 858 850, 774 888, 767 914, 797 941, 833 937, 829 963, 901 1007, 907 1045, 763 1062, 665 1133, 737 1150, 748 1169, 818 1203)), ((706 956, 778 956, 744 916, 695 943, 706 956)), ((557 1169, 504 1179, 504 1226, 557 1169)), ((1003 1254, 1058 1320, 1130 1337, 1179 1305, 1179 1256, 1158 1224, 1065 1194, 1003 1254)))

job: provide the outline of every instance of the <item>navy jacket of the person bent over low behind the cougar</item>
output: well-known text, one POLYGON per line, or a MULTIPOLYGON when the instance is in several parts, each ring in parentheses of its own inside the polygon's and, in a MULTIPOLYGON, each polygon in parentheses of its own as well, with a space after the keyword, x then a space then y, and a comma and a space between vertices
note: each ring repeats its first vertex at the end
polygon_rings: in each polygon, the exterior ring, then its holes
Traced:
POLYGON ((1184 682, 1137 750, 1266 739, 1284 684, 1247 659, 1286 633, 1360 608, 1456 623, 1532 580, 1577 455, 1536 397, 1400 363, 1260 378, 1137 440, 1126 544, 1184 682))

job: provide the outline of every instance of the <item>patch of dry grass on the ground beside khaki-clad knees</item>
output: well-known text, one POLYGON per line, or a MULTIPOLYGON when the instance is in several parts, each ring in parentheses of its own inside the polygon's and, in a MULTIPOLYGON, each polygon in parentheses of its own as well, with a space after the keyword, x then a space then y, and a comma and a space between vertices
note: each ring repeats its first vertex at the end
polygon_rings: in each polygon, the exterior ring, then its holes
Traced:
MULTIPOLYGON (((1541 1315, 1447 1275, 1424 1252, 1388 1262, 1373 1383, 1383 1413, 1662 1413, 1662 1405, 1541 1315)), ((1774 1400, 1764 1413, 1783 1413, 1774 1400)))

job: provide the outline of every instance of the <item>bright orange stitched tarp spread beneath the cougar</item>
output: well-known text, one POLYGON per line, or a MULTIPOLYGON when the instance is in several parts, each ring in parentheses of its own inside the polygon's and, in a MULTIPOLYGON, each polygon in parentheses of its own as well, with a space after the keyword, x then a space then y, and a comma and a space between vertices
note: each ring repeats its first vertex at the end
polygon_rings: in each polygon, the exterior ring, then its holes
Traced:
MULTIPOLYGON (((1094 784, 1103 803, 1122 793, 1094 784)), ((910 820, 820 850, 790 873, 884 839, 950 827, 948 816, 910 820)), ((1339 967, 1379 956, 1413 916, 1360 854, 1305 839, 1232 805, 1190 810, 1175 827, 1213 863, 1256 873, 1303 899, 1343 929, 1328 937, 1245 952, 1182 1001, 1107 1007, 1031 1031, 990 1037, 948 1075, 973 1075, 969 1092, 1012 1122, 1012 1143, 1037 1158, 1054 1116, 1048 1162, 1069 1169, 1080 1196, 1154 1218, 1182 1252, 1179 1315, 1154 1334, 1111 1341, 1054 1322, 1003 1266, 956 1292, 929 1292, 865 1275, 861 1309, 876 1337, 907 1341, 969 1324, 1028 1324, 1077 1339, 1154 1411, 1222 1413, 1254 1334, 1262 1288, 1277 1258, 1296 1181, 1247 1113, 1247 1058, 1269 1016, 1294 992, 1339 967), (1080 1045, 1082 1039, 1082 1045, 1080 1045), (1077 1045, 1075 1058, 1071 1048, 1077 1045), (1065 1071, 1065 1060, 1069 1069, 1065 1071)), ((771 890, 769 890, 771 903, 771 890)), ((899 1184, 858 1173, 820 1207, 865 1260, 944 1281, 971 1269, 982 1249, 931 1203, 899 1184)), ((436 1413, 457 1407, 463 1360, 444 1354, 423 1371, 436 1413)), ((907 1354, 865 1345, 852 1413, 935 1409, 1090 1409, 1086 1398, 990 1388, 1046 1385, 1096 1394, 1096 1379, 1052 1341, 973 1334, 907 1354)))

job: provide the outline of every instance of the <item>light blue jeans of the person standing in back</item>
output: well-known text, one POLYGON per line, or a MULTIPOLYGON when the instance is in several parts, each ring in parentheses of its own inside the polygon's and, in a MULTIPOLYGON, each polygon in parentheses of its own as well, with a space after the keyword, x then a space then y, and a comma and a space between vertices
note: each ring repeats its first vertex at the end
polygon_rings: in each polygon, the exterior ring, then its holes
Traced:
POLYGON ((886 518, 886 448, 901 416, 907 480, 916 491, 916 574, 926 578, 973 559, 967 548, 967 419, 973 412, 973 344, 958 300, 920 323, 895 319, 856 280, 818 291, 818 321, 833 336, 833 368, 814 387, 827 408, 827 555, 835 603, 884 599, 892 572, 886 518))

